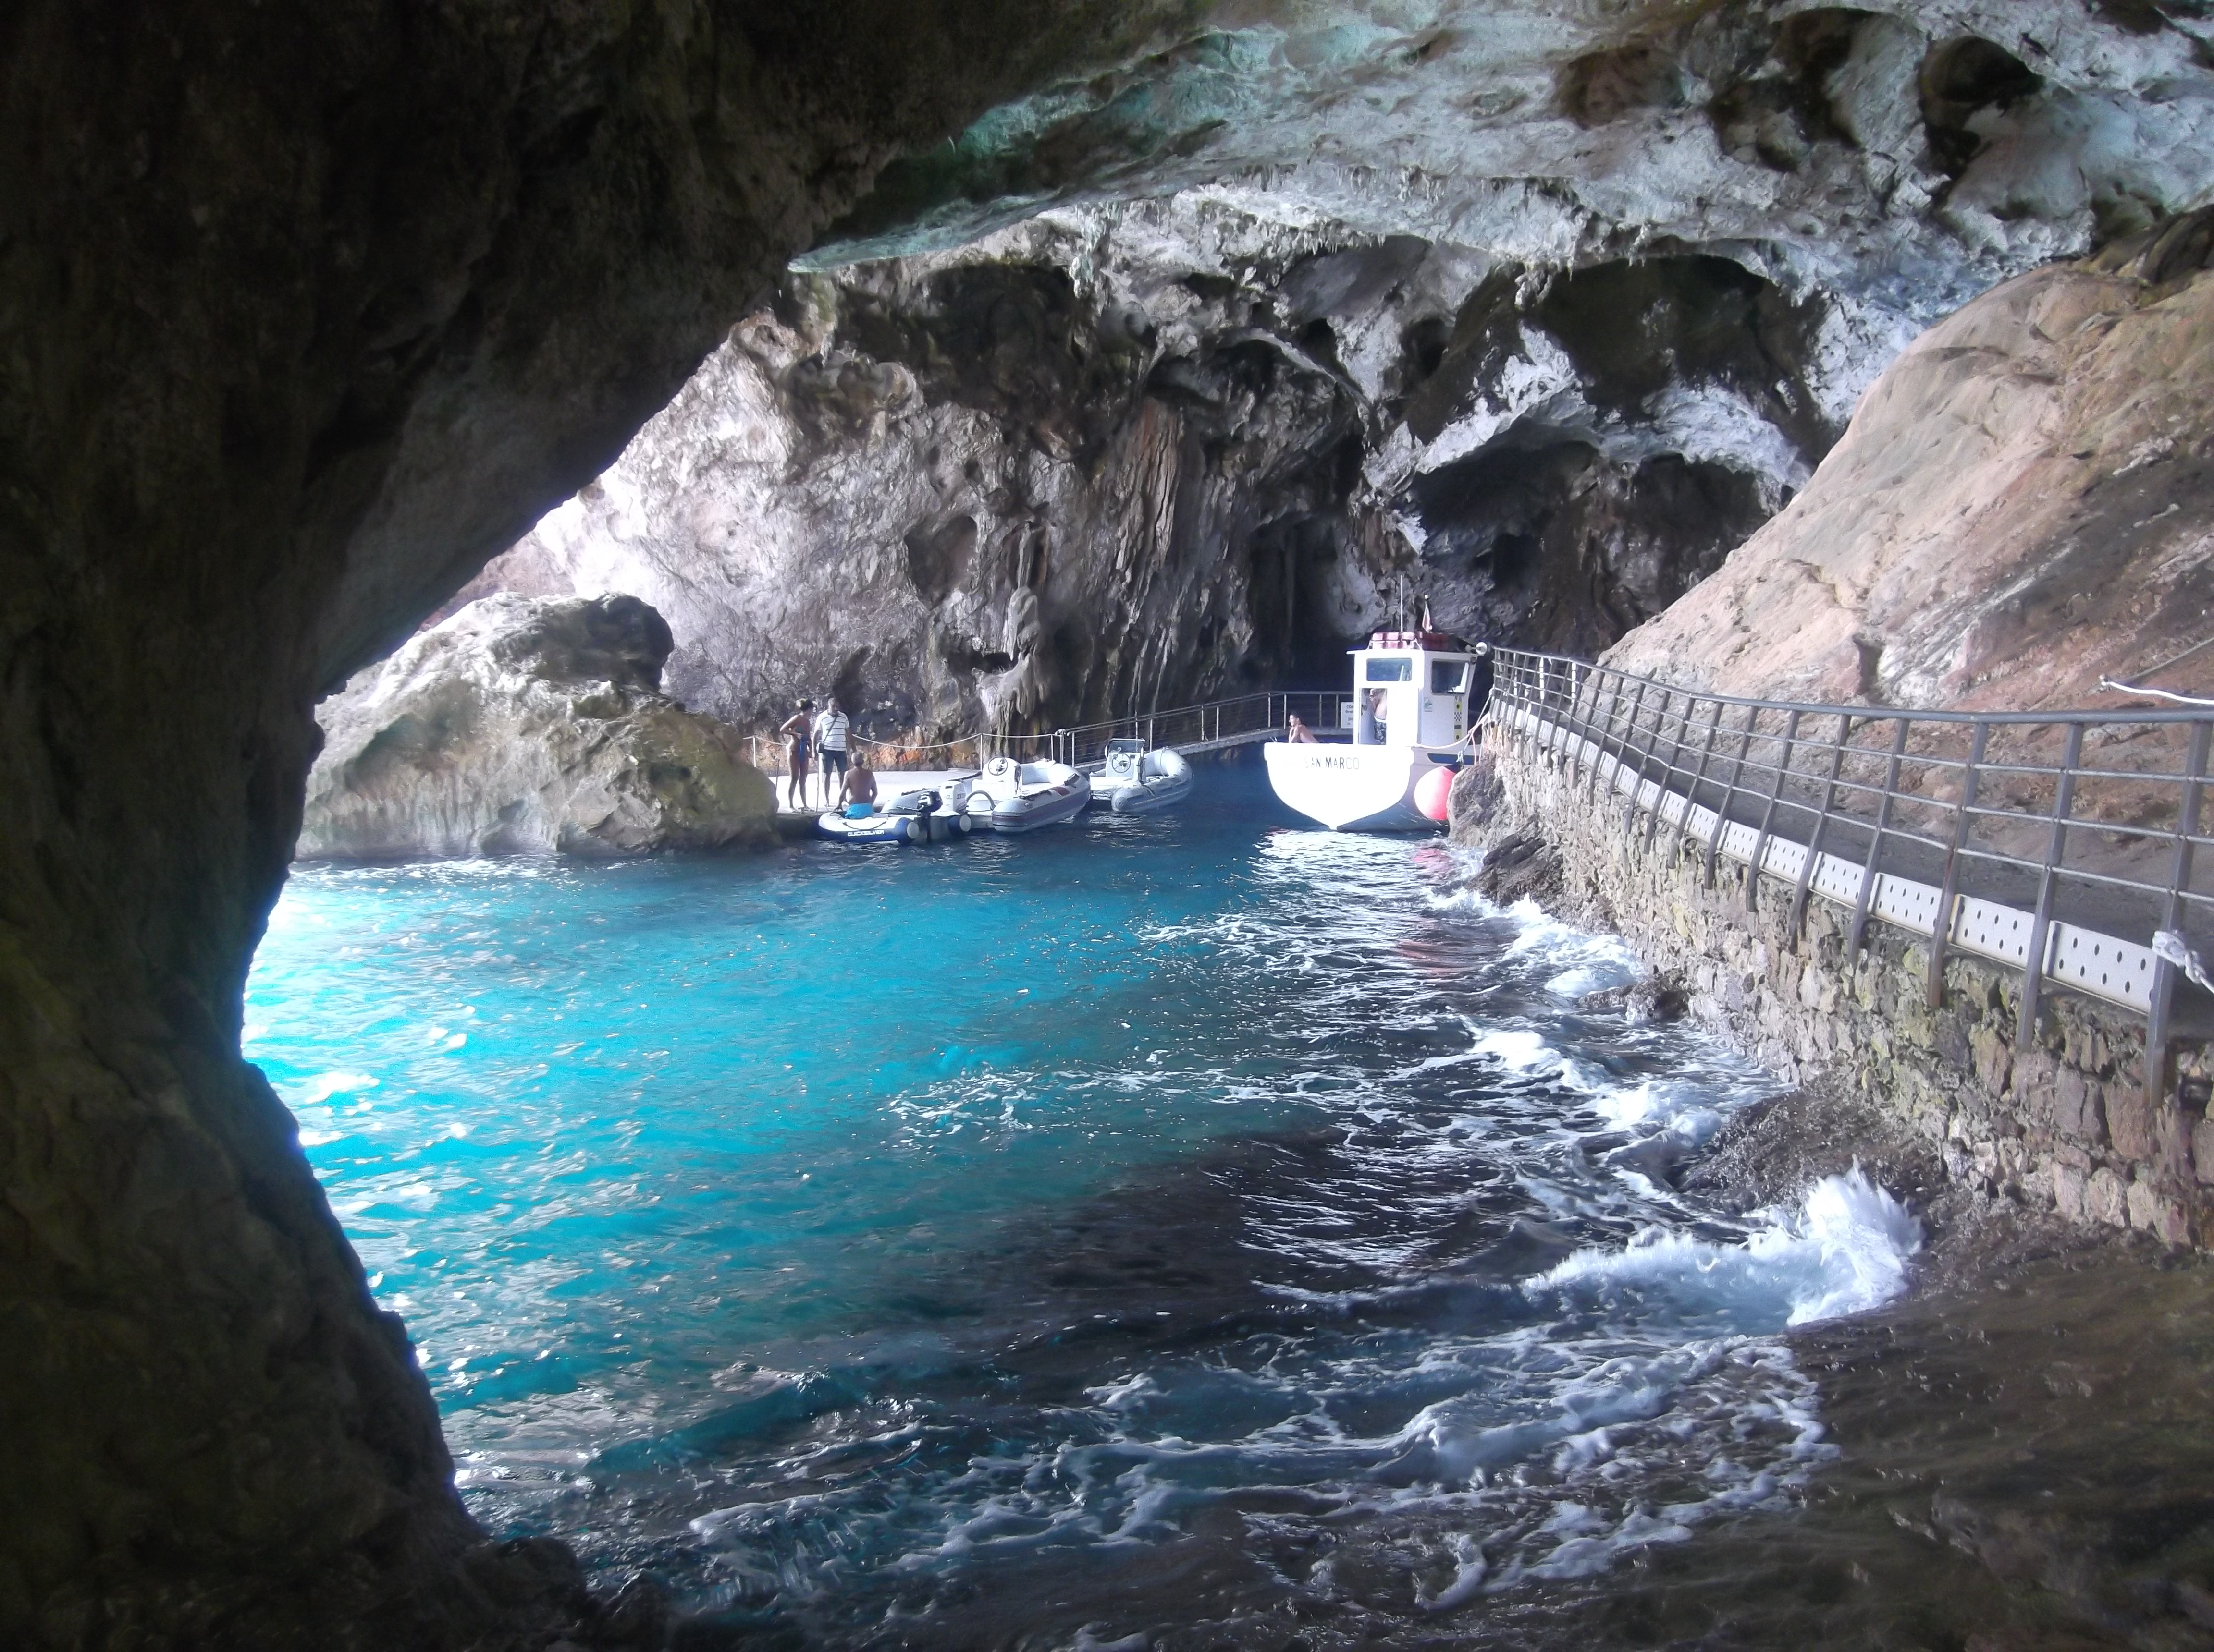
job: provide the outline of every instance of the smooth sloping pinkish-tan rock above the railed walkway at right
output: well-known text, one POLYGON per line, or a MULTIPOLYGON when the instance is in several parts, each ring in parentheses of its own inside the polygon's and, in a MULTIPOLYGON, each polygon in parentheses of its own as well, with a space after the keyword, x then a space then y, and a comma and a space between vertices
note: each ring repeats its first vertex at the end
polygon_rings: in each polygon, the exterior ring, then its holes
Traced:
POLYGON ((2210 263, 2201 212, 1966 305, 1791 509, 1607 661, 1840 703, 2119 705, 2099 679, 2143 675, 2205 692, 2210 263))

